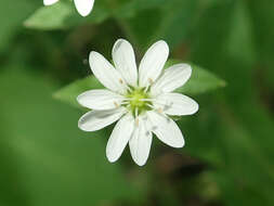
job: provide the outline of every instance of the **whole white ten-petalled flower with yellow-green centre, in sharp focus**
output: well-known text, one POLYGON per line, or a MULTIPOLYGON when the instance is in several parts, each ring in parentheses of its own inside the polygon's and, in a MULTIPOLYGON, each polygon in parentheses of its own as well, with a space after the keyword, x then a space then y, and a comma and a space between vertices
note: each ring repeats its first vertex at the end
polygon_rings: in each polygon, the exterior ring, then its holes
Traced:
POLYGON ((147 50, 138 69, 134 51, 123 39, 113 48, 116 68, 100 53, 90 53, 91 69, 106 89, 90 90, 77 98, 82 106, 92 110, 79 119, 78 126, 96 131, 119 119, 106 146, 109 162, 116 162, 129 143, 132 158, 143 166, 153 133, 170 146, 184 145, 183 134, 169 115, 192 115, 198 104, 173 92, 188 80, 192 68, 175 64, 164 69, 168 55, 168 44, 158 41, 147 50))

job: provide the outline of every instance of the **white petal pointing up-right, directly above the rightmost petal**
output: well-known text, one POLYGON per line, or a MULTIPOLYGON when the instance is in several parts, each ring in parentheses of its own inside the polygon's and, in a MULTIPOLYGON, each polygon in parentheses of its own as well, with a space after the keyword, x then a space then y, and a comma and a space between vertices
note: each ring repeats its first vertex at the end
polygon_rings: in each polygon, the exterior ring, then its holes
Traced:
POLYGON ((171 92, 182 87, 191 75, 192 67, 188 64, 175 64, 164 72, 162 76, 152 86, 151 92, 154 95, 171 92))

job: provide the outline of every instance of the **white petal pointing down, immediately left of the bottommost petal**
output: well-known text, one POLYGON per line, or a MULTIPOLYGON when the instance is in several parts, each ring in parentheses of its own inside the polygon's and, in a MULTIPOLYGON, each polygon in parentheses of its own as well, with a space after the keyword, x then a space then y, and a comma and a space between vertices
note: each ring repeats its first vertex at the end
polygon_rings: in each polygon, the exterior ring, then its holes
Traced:
POLYGON ((115 126, 106 145, 106 156, 110 163, 116 162, 120 156, 134 127, 134 118, 131 114, 123 116, 115 126))

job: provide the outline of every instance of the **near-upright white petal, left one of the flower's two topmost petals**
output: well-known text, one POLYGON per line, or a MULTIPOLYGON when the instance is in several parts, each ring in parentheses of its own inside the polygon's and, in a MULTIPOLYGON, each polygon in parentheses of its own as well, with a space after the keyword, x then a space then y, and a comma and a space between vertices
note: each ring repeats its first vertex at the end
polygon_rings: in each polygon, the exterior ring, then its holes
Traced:
POLYGON ((136 86, 138 70, 132 46, 125 39, 119 39, 113 48, 113 60, 117 70, 131 86, 136 86))

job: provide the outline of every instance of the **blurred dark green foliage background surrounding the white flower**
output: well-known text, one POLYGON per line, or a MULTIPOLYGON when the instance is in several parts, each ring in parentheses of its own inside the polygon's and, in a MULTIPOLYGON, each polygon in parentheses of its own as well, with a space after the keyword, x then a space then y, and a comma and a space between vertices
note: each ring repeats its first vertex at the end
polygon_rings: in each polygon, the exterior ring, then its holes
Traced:
POLYGON ((86 18, 69 0, 0 0, 0 206, 273 206, 273 0, 95 0, 86 18), (108 163, 112 127, 80 131, 74 86, 62 89, 118 38, 138 60, 165 39, 212 75, 178 120, 185 147, 155 138, 144 167, 128 149, 108 163))

